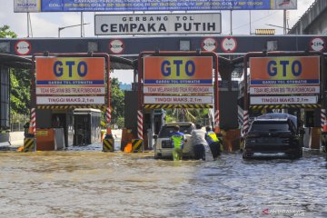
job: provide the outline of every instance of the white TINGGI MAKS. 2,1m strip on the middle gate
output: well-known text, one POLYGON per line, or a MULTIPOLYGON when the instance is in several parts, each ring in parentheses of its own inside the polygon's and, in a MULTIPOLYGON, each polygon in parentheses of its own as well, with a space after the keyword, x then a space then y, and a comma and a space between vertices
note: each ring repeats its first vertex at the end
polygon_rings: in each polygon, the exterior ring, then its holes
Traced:
POLYGON ((144 96, 144 104, 213 104, 213 96, 144 96))

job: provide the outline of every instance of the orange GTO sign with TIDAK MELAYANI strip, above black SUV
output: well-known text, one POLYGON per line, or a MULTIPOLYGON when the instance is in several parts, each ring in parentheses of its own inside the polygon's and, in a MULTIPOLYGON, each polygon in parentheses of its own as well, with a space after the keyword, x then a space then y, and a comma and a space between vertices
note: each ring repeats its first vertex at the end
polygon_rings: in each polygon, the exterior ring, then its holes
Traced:
POLYGON ((319 56, 250 58, 250 94, 319 94, 319 56))

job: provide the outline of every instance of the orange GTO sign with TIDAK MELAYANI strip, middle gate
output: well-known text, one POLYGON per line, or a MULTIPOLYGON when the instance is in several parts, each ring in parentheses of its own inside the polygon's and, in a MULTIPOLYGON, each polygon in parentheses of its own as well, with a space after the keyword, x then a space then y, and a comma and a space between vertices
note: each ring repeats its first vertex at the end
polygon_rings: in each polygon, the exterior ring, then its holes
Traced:
POLYGON ((213 58, 144 57, 144 94, 213 95, 213 58))

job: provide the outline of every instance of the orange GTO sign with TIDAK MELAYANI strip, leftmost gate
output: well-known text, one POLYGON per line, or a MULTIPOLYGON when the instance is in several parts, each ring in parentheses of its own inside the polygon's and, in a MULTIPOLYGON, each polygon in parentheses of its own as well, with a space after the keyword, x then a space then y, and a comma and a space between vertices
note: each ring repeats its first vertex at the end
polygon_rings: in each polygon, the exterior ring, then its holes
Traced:
POLYGON ((37 57, 36 94, 104 94, 104 58, 37 57))

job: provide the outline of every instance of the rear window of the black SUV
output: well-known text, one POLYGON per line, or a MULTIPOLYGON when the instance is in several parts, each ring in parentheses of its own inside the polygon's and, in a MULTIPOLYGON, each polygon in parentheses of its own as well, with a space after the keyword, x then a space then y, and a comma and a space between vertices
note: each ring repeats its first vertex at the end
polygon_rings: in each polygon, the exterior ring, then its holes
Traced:
POLYGON ((253 122, 250 131, 255 132, 272 132, 272 131, 290 131, 289 124, 287 122, 253 122))

